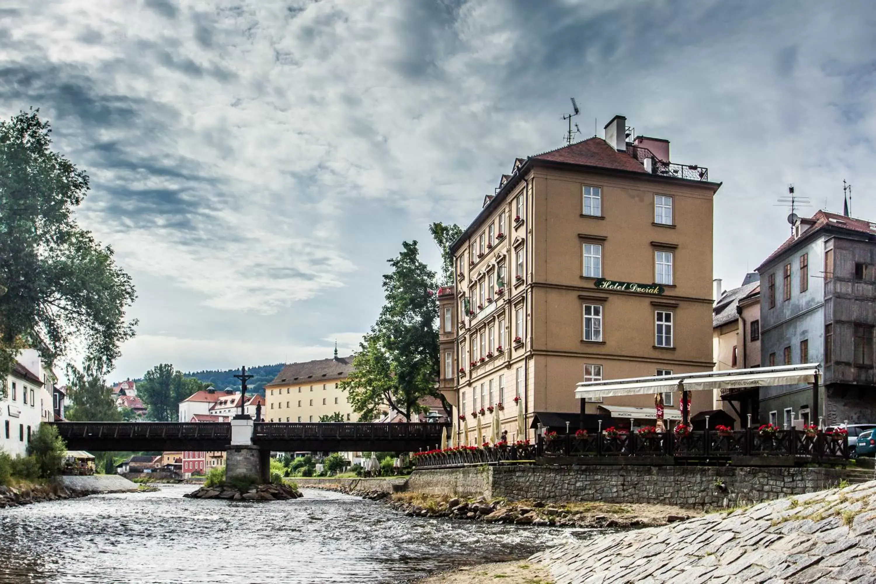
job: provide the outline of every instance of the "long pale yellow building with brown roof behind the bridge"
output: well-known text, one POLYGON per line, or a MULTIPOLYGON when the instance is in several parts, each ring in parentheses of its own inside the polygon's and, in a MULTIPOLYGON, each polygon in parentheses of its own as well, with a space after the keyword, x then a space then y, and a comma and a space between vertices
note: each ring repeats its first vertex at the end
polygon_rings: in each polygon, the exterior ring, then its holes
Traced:
POLYGON ((265 385, 266 422, 318 422, 321 416, 340 413, 344 421, 356 422, 347 392, 338 383, 350 376, 353 357, 337 356, 286 365, 265 385))

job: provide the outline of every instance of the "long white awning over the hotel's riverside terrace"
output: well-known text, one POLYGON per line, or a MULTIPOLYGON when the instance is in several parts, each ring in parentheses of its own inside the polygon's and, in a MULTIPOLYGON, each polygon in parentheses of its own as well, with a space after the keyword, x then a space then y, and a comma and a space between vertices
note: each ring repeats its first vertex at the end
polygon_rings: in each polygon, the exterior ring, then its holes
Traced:
POLYGON ((724 390, 739 387, 814 383, 819 374, 818 368, 818 363, 807 363, 804 365, 589 381, 577 384, 575 397, 579 399, 610 398, 612 396, 635 396, 667 391, 724 390))

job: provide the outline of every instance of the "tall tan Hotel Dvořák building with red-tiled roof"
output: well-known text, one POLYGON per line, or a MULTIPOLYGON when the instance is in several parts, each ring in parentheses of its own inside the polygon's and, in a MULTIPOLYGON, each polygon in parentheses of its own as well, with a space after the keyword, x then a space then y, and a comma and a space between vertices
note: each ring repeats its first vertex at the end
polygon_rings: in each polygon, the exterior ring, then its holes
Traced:
MULTIPOLYGON (((669 162, 666 140, 627 142, 625 122, 615 116, 604 138, 518 158, 453 244, 456 286, 439 291, 439 386, 459 443, 475 440, 472 413, 499 402, 509 438, 523 438, 515 397, 527 426, 582 413, 650 425, 653 397, 581 405, 576 383, 712 369, 720 185, 703 167, 669 162)), ((710 410, 711 396, 696 393, 691 412, 710 410)), ((669 420, 678 399, 664 397, 669 420)))

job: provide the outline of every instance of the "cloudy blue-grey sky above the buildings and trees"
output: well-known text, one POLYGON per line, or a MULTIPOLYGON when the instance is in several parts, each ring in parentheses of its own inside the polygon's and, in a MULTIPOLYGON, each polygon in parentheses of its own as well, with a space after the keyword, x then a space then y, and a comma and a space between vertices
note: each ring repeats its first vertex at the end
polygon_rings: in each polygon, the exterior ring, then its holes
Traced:
POLYGON ((499 176, 627 116, 723 181, 715 277, 788 235, 790 182, 876 219, 876 3, 0 0, 0 115, 39 107, 138 288, 111 376, 343 353, 385 260, 499 176))

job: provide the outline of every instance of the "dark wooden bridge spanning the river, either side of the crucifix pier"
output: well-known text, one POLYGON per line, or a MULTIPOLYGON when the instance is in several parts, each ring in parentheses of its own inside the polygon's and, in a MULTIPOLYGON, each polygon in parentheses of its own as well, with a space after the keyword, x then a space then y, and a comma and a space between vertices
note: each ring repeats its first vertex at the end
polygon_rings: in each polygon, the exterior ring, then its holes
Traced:
MULTIPOLYGON (((180 451, 227 450, 231 424, 222 422, 54 422, 70 450, 180 451)), ((441 442, 442 424, 312 424, 253 425, 252 445, 273 452, 417 452, 441 442)))

